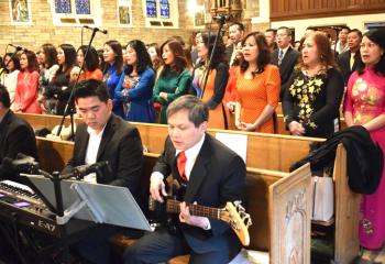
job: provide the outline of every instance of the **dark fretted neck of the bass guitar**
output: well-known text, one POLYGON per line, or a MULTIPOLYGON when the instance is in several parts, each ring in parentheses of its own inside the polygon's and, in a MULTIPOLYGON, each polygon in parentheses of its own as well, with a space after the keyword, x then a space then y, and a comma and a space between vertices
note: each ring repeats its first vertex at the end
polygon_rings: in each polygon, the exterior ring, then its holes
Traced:
MULTIPOLYGON (((174 212, 174 213, 179 213, 180 212, 180 201, 168 199, 167 200, 167 207, 166 210, 167 212, 174 212)), ((207 217, 207 218, 212 218, 212 219, 221 219, 221 211, 222 209, 217 209, 212 207, 205 207, 200 205, 193 205, 193 204, 187 204, 189 211, 193 216, 197 217, 207 217)))

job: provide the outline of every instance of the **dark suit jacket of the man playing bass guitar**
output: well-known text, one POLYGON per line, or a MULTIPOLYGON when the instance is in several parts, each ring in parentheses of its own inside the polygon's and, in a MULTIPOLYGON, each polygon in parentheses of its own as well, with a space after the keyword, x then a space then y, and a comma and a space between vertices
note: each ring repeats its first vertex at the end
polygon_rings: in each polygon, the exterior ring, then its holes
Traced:
MULTIPOLYGON (((154 167, 167 176, 169 174, 180 179, 176 167, 176 150, 169 138, 165 143, 165 151, 154 167)), ((185 201, 198 205, 223 207, 227 201, 244 200, 245 195, 245 164, 242 158, 222 143, 206 134, 202 147, 193 167, 185 201)), ((239 240, 230 226, 209 219, 211 230, 182 224, 182 232, 189 246, 197 253, 206 253, 220 249, 221 243, 234 244, 239 250, 239 240)))

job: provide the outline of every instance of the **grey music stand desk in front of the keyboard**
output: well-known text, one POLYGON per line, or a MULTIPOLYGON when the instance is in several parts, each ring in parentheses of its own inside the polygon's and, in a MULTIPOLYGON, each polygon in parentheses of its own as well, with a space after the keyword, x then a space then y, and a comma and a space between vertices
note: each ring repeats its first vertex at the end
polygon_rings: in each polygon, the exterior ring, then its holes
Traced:
MULTIPOLYGON (((56 196, 53 183, 38 175, 23 175, 53 204, 56 196)), ((64 179, 61 183, 64 210, 57 217, 58 224, 65 224, 70 218, 108 223, 132 229, 151 231, 150 223, 130 190, 125 187, 90 184, 64 179)))

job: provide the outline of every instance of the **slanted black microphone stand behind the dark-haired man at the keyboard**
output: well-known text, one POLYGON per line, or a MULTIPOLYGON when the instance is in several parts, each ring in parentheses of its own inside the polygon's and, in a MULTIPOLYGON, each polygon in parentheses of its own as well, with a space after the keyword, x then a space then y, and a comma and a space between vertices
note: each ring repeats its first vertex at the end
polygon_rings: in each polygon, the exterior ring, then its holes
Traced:
POLYGON ((63 129, 63 125, 64 125, 64 120, 66 119, 66 117, 69 114, 69 118, 70 118, 70 139, 74 139, 75 136, 75 131, 74 131, 74 113, 75 113, 75 101, 74 101, 74 92, 78 86, 78 82, 79 82, 79 78, 80 78, 80 75, 81 73, 84 72, 84 68, 85 68, 85 62, 86 62, 86 58, 87 58, 87 55, 88 55, 88 52, 91 47, 91 44, 92 44, 92 41, 94 41, 94 37, 96 35, 96 32, 97 32, 97 29, 94 29, 92 30, 92 34, 91 34, 91 38, 89 40, 88 42, 88 45, 87 45, 87 50, 86 50, 86 54, 85 54, 85 59, 82 61, 81 63, 81 66, 80 66, 80 72, 79 72, 79 75, 77 76, 76 78, 76 81, 74 84, 74 87, 73 87, 73 90, 70 91, 70 95, 69 95, 69 98, 67 100, 67 103, 66 103, 66 107, 64 108, 64 112, 63 112, 63 117, 62 117, 62 121, 61 121, 61 124, 58 127, 58 130, 57 130, 57 133, 56 135, 59 136, 61 133, 62 133, 62 129, 63 129))

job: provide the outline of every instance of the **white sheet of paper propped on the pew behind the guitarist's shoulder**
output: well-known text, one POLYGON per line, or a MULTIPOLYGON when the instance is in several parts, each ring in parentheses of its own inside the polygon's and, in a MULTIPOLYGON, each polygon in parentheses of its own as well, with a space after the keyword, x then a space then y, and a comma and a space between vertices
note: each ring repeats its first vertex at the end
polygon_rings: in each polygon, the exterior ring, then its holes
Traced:
POLYGON ((217 132, 216 139, 240 155, 244 163, 246 163, 248 135, 217 132))

